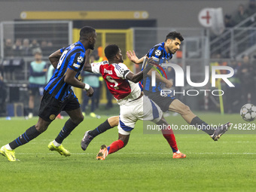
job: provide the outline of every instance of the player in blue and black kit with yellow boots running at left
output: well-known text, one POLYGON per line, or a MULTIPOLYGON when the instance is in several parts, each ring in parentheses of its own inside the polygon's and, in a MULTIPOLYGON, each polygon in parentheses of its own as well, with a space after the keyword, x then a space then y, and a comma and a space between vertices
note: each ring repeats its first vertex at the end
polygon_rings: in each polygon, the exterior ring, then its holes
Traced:
POLYGON ((66 121, 56 139, 50 142, 48 148, 66 157, 70 156, 70 152, 62 146, 62 141, 84 120, 78 98, 75 96, 72 86, 85 89, 87 90, 87 96, 93 96, 93 88, 89 84, 79 81, 78 75, 83 69, 85 59, 89 59, 85 56, 85 51, 87 49, 93 50, 95 43, 96 30, 90 26, 84 26, 80 31, 78 42, 56 50, 49 56, 55 72, 44 87, 38 122, 17 139, 14 139, 13 142, 2 146, 0 153, 7 157, 9 161, 17 161, 14 149, 35 139, 47 130, 47 127, 60 111, 66 111, 70 118, 66 121))

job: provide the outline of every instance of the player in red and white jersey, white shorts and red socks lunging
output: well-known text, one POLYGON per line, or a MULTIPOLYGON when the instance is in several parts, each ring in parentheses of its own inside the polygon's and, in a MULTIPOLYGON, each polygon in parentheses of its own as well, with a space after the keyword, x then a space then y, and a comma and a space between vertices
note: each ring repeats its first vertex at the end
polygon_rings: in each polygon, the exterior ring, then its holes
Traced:
MULTIPOLYGON (((87 51, 87 57, 89 58, 90 51, 87 51)), ((120 115, 118 123, 118 140, 111 143, 111 145, 102 145, 97 154, 97 160, 105 160, 108 154, 112 154, 120 148, 123 148, 130 138, 130 133, 134 129, 137 120, 151 120, 158 125, 165 125, 169 129, 166 129, 166 133, 172 133, 170 126, 163 118, 163 112, 151 99, 144 96, 144 93, 139 87, 138 82, 142 80, 143 73, 149 72, 151 67, 148 65, 142 72, 136 75, 123 64, 123 56, 121 50, 116 44, 110 44, 105 47, 105 56, 108 62, 96 62, 91 63, 90 60, 86 59, 84 64, 84 70, 87 72, 93 72, 102 75, 104 78, 108 90, 117 99, 117 103, 120 105, 120 115), (170 131, 171 130, 171 131, 170 131)), ((163 130, 165 131, 165 130, 163 130)), ((169 138, 172 142, 171 147, 174 155, 179 158, 186 157, 178 151, 175 138, 173 140, 169 138)))

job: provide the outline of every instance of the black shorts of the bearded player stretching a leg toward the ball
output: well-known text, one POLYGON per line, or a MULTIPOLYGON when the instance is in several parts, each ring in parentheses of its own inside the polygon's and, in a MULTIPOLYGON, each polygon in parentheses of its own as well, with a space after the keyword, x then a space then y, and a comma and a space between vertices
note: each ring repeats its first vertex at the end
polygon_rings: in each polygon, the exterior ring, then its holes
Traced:
POLYGON ((161 96, 160 92, 150 92, 147 90, 143 90, 143 92, 149 97, 149 99, 157 103, 163 112, 168 111, 169 105, 171 105, 171 103, 176 99, 174 96, 161 96))

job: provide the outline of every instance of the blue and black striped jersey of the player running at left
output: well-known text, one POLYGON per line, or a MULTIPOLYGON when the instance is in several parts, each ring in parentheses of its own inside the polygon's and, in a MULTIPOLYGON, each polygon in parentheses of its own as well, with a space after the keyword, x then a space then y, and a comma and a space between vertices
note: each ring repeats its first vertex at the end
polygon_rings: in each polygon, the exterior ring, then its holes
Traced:
POLYGON ((58 66, 56 67, 50 81, 44 87, 44 90, 54 96, 56 99, 62 101, 70 94, 75 95, 72 86, 66 84, 64 81, 67 69, 72 69, 77 74, 75 78, 81 73, 85 61, 85 49, 80 41, 75 44, 70 44, 69 47, 62 48, 62 55, 60 56, 58 66))

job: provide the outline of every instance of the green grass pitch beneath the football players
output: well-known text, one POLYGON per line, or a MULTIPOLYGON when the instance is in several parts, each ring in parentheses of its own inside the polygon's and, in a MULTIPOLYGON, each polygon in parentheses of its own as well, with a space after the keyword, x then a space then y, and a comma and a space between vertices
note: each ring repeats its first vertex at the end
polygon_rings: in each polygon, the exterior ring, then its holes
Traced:
MULTIPOLYGON (((209 123, 246 123, 239 114, 197 113, 209 123)), ((54 120, 38 138, 16 149, 20 162, 0 157, 0 191, 255 191, 256 130, 250 134, 233 134, 229 130, 218 142, 206 134, 193 131, 176 134, 178 148, 185 159, 172 159, 172 152, 161 134, 145 134, 142 121, 136 123, 129 144, 96 160, 102 144, 117 140, 117 128, 93 139, 82 151, 80 142, 86 130, 95 128, 101 119, 85 117, 62 144, 71 151, 62 157, 49 151, 47 145, 56 138, 67 120, 54 120)), ((166 117, 178 124, 180 116, 166 117)), ((37 121, 12 118, 0 119, 0 145, 16 139, 37 121)), ((250 123, 255 123, 250 122, 250 123)))

